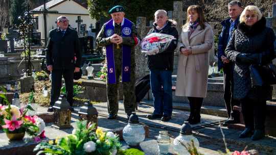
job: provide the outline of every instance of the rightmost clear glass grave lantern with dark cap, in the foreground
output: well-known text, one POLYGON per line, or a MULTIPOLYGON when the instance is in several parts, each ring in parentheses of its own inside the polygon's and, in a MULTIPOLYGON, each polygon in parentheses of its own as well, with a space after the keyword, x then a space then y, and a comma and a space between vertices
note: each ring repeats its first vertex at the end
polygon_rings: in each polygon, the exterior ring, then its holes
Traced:
POLYGON ((192 127, 188 121, 185 121, 181 126, 180 134, 173 141, 173 149, 175 153, 178 154, 190 154, 188 150, 185 148, 192 146, 192 140, 194 142, 194 146, 198 150, 199 142, 197 138, 193 136, 192 127), (185 145, 185 146, 183 146, 185 145))

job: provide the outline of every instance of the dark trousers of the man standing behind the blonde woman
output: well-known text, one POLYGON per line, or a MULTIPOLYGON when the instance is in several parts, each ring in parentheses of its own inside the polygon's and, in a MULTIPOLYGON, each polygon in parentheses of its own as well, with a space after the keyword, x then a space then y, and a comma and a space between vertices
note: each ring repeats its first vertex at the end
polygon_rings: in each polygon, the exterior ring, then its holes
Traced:
POLYGON ((240 112, 233 110, 234 106, 240 105, 240 102, 234 99, 234 77, 233 77, 233 63, 229 62, 223 66, 223 89, 224 89, 224 102, 228 118, 232 117, 240 119, 240 112))

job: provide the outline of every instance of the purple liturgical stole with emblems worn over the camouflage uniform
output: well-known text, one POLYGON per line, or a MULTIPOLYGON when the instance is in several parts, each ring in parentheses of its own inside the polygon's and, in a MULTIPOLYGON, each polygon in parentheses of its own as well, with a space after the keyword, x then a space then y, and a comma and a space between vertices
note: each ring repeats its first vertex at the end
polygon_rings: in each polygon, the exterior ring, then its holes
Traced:
MULTIPOLYGON (((130 20, 124 18, 124 23, 122 25, 122 37, 131 37, 131 26, 132 23, 130 20)), ((113 19, 109 20, 105 24, 105 36, 110 37, 114 34, 114 25, 113 19)), ((115 44, 116 45, 116 44, 115 44)), ((115 84, 116 83, 116 73, 115 73, 115 62, 114 62, 114 54, 113 48, 114 44, 110 44, 106 46, 106 59, 107 59, 107 75, 108 75, 108 83, 115 84)), ((129 82, 130 81, 130 51, 131 46, 123 44, 122 51, 122 81, 129 82)))

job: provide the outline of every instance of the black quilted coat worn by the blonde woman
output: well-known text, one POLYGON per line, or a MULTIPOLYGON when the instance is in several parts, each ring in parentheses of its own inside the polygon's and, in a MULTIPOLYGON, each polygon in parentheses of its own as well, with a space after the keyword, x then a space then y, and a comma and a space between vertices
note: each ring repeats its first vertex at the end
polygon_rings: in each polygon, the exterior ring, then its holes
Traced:
MULTIPOLYGON (((250 64, 236 62, 239 54, 261 53, 262 64, 269 63, 275 58, 273 46, 275 35, 273 30, 266 27, 265 24, 266 19, 264 17, 257 21, 251 29, 244 22, 240 23, 225 49, 226 57, 235 62, 234 99, 240 100, 246 95, 255 101, 271 99, 272 87, 266 85, 251 88, 250 64)), ((252 61, 251 64, 255 63, 252 61)))

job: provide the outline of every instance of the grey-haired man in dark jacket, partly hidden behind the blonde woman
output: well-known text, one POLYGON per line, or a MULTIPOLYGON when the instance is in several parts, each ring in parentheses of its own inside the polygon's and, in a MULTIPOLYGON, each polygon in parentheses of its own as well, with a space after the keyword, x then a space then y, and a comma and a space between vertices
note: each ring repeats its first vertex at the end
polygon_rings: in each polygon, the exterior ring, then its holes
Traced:
POLYGON ((233 107, 239 105, 240 102, 233 98, 234 79, 233 79, 233 63, 229 61, 224 53, 231 35, 237 29, 242 12, 242 4, 240 1, 234 0, 228 4, 229 18, 221 22, 223 29, 219 36, 218 44, 218 70, 223 68, 223 86, 224 86, 224 102, 228 115, 222 125, 234 124, 240 122, 239 111, 234 111, 233 107))

